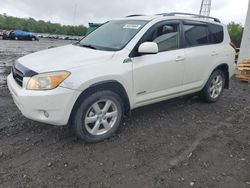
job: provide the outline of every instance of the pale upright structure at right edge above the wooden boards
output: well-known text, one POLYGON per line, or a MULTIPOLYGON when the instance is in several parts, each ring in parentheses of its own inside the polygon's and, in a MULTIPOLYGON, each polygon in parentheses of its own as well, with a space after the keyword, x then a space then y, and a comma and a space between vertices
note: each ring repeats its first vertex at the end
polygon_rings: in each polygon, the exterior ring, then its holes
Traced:
POLYGON ((240 63, 244 59, 250 59, 250 1, 248 2, 248 11, 240 46, 240 56, 238 63, 240 63))

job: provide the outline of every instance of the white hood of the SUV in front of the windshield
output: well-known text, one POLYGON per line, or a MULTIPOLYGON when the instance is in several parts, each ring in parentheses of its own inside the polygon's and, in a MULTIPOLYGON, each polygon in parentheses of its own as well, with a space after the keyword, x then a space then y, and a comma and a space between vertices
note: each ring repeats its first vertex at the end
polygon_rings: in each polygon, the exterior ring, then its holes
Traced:
POLYGON ((35 72, 41 73, 70 70, 78 66, 102 63, 111 59, 113 55, 114 52, 110 51, 66 45, 29 54, 18 59, 18 63, 35 72))

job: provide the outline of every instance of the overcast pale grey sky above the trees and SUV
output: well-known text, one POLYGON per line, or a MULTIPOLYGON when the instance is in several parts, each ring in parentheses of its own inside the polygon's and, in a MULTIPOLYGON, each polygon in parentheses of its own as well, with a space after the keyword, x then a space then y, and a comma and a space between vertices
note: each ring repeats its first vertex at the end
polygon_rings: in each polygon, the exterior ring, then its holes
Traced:
MULTIPOLYGON (((105 22, 130 14, 199 13, 202 0, 0 0, 0 14, 64 25, 105 22)), ((212 0, 211 16, 245 24, 248 0, 212 0)))

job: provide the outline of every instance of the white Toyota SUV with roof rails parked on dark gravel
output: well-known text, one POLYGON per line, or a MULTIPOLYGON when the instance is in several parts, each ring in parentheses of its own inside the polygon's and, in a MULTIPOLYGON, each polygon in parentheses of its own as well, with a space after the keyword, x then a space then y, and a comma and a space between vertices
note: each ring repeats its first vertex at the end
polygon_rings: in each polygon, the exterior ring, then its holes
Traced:
POLYGON ((16 105, 98 142, 137 107, 190 93, 216 102, 236 67, 227 27, 178 14, 112 20, 80 42, 18 59, 8 76, 16 105))

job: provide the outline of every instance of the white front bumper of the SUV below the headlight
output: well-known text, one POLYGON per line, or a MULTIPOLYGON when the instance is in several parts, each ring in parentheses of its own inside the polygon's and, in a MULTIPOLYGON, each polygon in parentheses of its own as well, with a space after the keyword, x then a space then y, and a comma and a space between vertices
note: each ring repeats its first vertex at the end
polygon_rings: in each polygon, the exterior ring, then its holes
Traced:
POLYGON ((20 87, 12 74, 7 78, 13 100, 28 119, 52 125, 66 125, 80 91, 58 87, 48 91, 30 91, 20 87))

